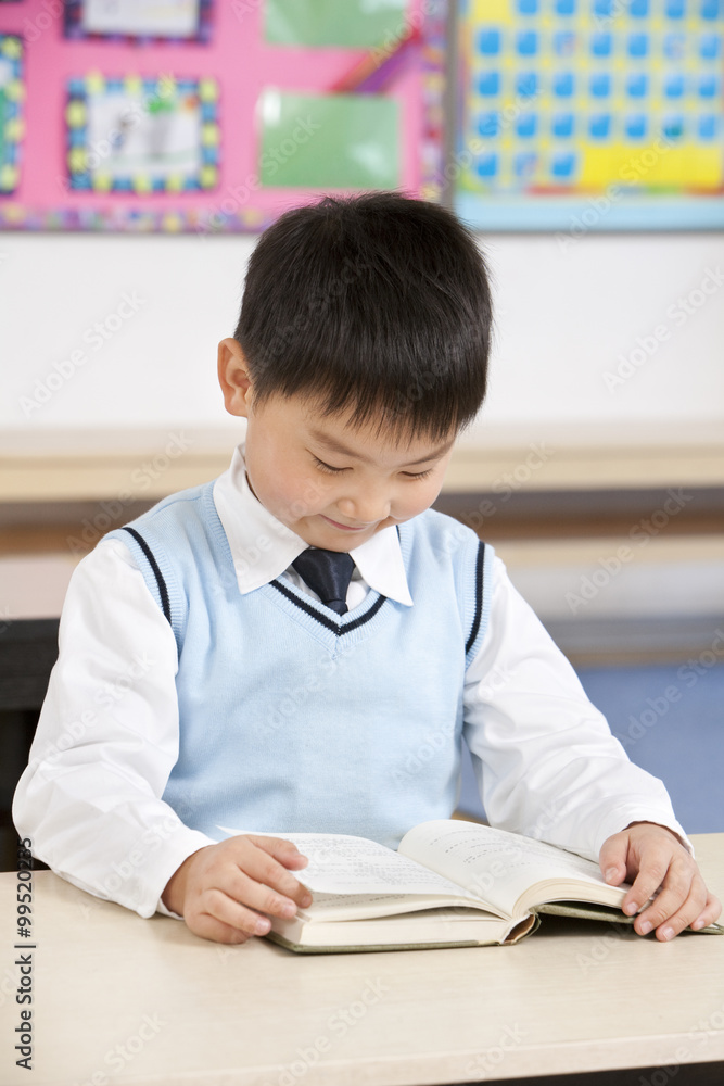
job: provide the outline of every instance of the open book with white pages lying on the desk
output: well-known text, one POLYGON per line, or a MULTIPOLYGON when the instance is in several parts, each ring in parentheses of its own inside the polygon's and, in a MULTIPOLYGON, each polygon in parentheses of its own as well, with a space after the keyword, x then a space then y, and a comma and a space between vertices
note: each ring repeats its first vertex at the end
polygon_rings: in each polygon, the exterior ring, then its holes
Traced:
POLYGON ((291 920, 272 917, 267 936, 302 954, 516 943, 541 912, 634 922, 620 911, 628 884, 609 886, 597 863, 477 822, 422 822, 396 853, 347 834, 265 836, 292 841, 309 859, 293 873, 312 905, 291 920))

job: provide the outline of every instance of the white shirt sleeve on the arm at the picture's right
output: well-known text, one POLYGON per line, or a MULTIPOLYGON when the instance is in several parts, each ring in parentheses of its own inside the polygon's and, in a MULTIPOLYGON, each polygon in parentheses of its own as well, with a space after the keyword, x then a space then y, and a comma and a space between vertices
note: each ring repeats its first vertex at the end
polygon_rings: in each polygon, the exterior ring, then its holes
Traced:
POLYGON ((628 760, 499 558, 492 591, 463 695, 465 736, 491 824, 598 859, 611 834, 658 822, 693 851, 662 782, 628 760))

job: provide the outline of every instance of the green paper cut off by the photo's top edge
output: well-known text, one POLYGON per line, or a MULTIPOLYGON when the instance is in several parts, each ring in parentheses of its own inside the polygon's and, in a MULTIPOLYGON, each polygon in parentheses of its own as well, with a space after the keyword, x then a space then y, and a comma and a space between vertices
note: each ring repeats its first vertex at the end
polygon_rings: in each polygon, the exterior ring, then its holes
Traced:
POLYGON ((265 36, 275 46, 371 49, 405 28, 406 0, 266 0, 265 36))

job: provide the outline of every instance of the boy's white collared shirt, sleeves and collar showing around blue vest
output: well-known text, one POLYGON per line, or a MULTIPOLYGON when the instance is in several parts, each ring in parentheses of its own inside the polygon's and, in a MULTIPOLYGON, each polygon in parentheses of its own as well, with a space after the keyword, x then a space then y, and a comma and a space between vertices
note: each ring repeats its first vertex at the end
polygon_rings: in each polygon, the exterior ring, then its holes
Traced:
MULTIPOLYGON (((240 593, 281 577, 317 598, 290 568, 307 544, 252 493, 243 446, 216 480, 214 502, 240 593)), ((351 554, 350 609, 369 588, 415 606, 394 527, 351 554)), ((497 557, 493 570, 490 623, 463 692, 465 735, 491 823, 597 859, 612 833, 658 822, 691 850, 661 782, 628 760, 497 557)), ((101 541, 68 586, 13 817, 59 874, 141 915, 173 915, 161 901, 166 883, 213 843, 161 798, 178 757, 177 665, 172 628, 130 552, 101 541)))

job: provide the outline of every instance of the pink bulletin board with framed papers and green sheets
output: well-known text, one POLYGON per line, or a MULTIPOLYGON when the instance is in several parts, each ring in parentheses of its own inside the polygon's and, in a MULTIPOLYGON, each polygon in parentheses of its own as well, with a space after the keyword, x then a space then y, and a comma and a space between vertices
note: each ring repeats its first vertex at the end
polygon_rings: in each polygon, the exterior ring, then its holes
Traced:
POLYGON ((0 228, 258 231, 442 187, 445 0, 0 3, 0 228))

